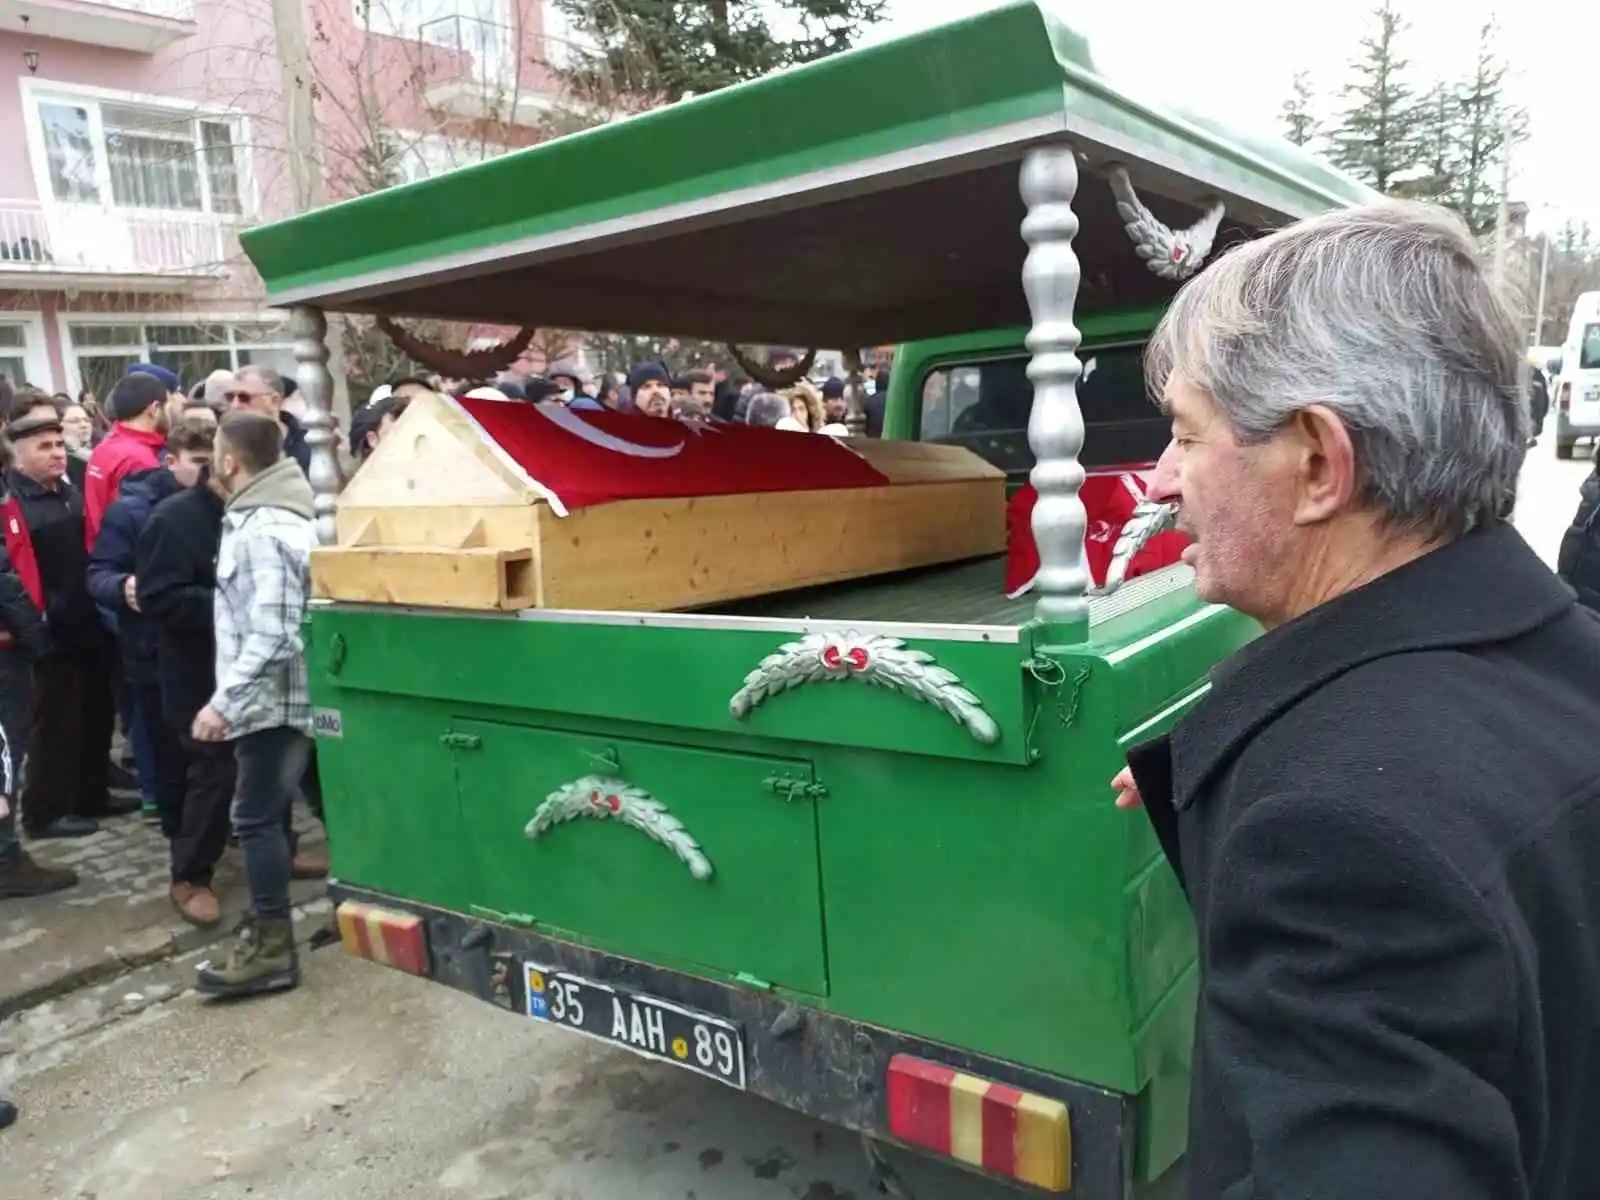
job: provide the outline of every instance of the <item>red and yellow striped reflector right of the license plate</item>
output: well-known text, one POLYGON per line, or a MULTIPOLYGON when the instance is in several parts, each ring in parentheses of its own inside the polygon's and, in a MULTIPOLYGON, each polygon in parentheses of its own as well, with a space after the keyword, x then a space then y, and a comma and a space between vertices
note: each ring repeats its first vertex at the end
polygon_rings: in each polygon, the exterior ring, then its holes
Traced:
POLYGON ((1072 1187, 1067 1106, 938 1062, 896 1054, 890 1133, 902 1142, 1046 1192, 1072 1187))

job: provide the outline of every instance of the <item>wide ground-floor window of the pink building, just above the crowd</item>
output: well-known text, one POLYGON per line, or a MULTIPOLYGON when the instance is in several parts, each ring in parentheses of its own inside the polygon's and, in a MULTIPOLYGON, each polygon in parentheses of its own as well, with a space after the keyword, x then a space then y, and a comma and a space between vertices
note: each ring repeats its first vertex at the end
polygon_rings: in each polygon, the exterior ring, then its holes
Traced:
POLYGON ((186 389, 211 371, 237 371, 246 363, 294 371, 294 339, 285 326, 266 322, 83 320, 67 323, 67 339, 82 386, 102 398, 134 363, 165 366, 186 389))

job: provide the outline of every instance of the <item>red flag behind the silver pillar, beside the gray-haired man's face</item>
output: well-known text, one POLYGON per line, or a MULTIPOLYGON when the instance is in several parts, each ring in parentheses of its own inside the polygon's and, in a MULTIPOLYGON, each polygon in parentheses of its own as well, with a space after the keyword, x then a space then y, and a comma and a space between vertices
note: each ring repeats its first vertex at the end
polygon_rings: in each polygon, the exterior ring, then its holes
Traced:
MULTIPOLYGON (((1122 526, 1133 517, 1134 507, 1144 501, 1144 490, 1154 469, 1154 462, 1098 467, 1088 472, 1083 480, 1083 486, 1078 490, 1078 499, 1083 501, 1088 512, 1083 557, 1088 560, 1094 587, 1106 584, 1106 571, 1110 568, 1117 538, 1122 536, 1122 526)), ((1035 502, 1038 502, 1038 493, 1034 491, 1032 483, 1024 483, 1006 504, 1006 595, 1022 595, 1034 586, 1034 578, 1038 574, 1038 546, 1034 542, 1035 502)), ((1187 544, 1189 538, 1171 530, 1155 534, 1133 555, 1123 579, 1171 566, 1182 557, 1187 544)))

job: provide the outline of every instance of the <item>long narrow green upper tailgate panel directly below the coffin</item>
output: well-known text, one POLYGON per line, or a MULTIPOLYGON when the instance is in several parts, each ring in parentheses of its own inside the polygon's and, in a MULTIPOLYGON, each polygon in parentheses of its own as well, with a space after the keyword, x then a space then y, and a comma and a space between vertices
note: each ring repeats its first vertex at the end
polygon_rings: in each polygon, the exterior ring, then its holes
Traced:
POLYGON ((776 738, 1027 762, 1019 645, 907 642, 978 694, 1000 731, 984 744, 931 704, 859 682, 803 685, 736 718, 730 701, 746 675, 798 634, 339 606, 318 608, 312 624, 312 674, 347 690, 699 730, 725 734, 728 749, 776 738))

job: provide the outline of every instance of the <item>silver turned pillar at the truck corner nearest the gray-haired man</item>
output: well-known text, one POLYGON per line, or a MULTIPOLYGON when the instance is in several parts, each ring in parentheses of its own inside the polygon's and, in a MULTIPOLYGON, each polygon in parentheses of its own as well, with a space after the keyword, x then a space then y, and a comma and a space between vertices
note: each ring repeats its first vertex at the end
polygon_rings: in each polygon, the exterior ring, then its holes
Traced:
POLYGON ((1083 531, 1088 517, 1078 491, 1083 486, 1083 410, 1078 408, 1078 342, 1083 334, 1072 322, 1078 299, 1078 256, 1072 238, 1078 218, 1072 200, 1078 190, 1078 163, 1070 146, 1053 144, 1029 150, 1022 160, 1022 290, 1034 326, 1027 334, 1032 360, 1034 411, 1027 419, 1027 445, 1034 451, 1030 480, 1038 493, 1034 506, 1034 541, 1038 546, 1038 579, 1034 608, 1050 626, 1088 619, 1088 562, 1083 531))

